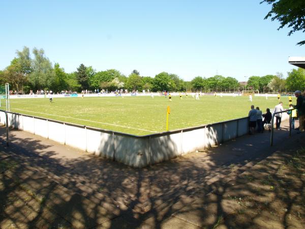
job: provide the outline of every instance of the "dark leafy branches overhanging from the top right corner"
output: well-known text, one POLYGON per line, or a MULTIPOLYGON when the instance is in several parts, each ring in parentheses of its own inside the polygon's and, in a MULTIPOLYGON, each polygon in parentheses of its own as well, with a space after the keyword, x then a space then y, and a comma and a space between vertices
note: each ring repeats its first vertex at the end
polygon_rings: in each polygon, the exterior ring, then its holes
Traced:
MULTIPOLYGON (((291 28, 288 36, 296 31, 305 31, 304 0, 263 0, 262 3, 272 5, 264 19, 271 17, 271 21, 278 20, 281 24, 278 30, 287 25, 291 28)), ((305 40, 297 43, 297 45, 303 44, 305 44, 305 40)))

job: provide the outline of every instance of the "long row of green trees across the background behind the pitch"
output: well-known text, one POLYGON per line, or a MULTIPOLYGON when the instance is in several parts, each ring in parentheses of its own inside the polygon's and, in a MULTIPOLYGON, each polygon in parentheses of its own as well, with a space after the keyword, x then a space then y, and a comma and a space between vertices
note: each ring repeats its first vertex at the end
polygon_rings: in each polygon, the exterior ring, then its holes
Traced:
POLYGON ((141 76, 133 70, 126 76, 118 70, 96 71, 92 66, 80 64, 75 72, 66 73, 58 63, 52 65, 43 49, 34 48, 31 56, 29 48, 16 51, 17 57, 4 70, 0 70, 0 84, 10 83, 13 91, 28 93, 30 90, 82 90, 115 91, 201 91, 232 92, 241 90, 258 90, 260 92, 283 92, 303 90, 305 88, 305 70, 293 69, 285 79, 283 74, 251 76, 247 82, 238 82, 234 77, 215 75, 197 76, 185 81, 176 74, 161 72, 155 77, 141 76))

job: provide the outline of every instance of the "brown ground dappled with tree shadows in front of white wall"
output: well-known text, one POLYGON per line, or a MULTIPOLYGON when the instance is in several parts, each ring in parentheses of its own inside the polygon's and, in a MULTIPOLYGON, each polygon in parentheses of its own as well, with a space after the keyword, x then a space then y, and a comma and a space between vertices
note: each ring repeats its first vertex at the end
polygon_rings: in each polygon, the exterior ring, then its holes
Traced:
POLYGON ((52 141, 18 131, 10 137, 0 152, 1 228, 304 225, 301 137, 294 147, 278 140, 272 150, 263 150, 268 137, 241 137, 142 169, 90 155, 58 157, 52 141))

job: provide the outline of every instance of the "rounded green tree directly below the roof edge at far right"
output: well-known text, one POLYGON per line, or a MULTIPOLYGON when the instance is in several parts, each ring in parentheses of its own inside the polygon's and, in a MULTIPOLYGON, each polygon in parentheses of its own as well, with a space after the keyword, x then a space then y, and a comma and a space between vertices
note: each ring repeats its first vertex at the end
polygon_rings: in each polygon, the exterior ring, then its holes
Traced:
POLYGON ((286 79, 286 85, 289 91, 304 91, 305 90, 305 69, 298 68, 292 69, 288 72, 288 77, 286 79))

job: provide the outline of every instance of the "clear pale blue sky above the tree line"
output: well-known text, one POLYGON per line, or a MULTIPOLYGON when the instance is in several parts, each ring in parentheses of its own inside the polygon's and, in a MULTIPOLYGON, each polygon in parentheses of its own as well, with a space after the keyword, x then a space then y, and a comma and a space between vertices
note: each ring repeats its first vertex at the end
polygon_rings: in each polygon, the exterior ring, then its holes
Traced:
POLYGON ((66 72, 83 63, 185 80, 217 73, 244 81, 294 67, 304 33, 264 20, 269 5, 236 1, 1 1, 0 69, 23 46, 43 48, 66 72))

